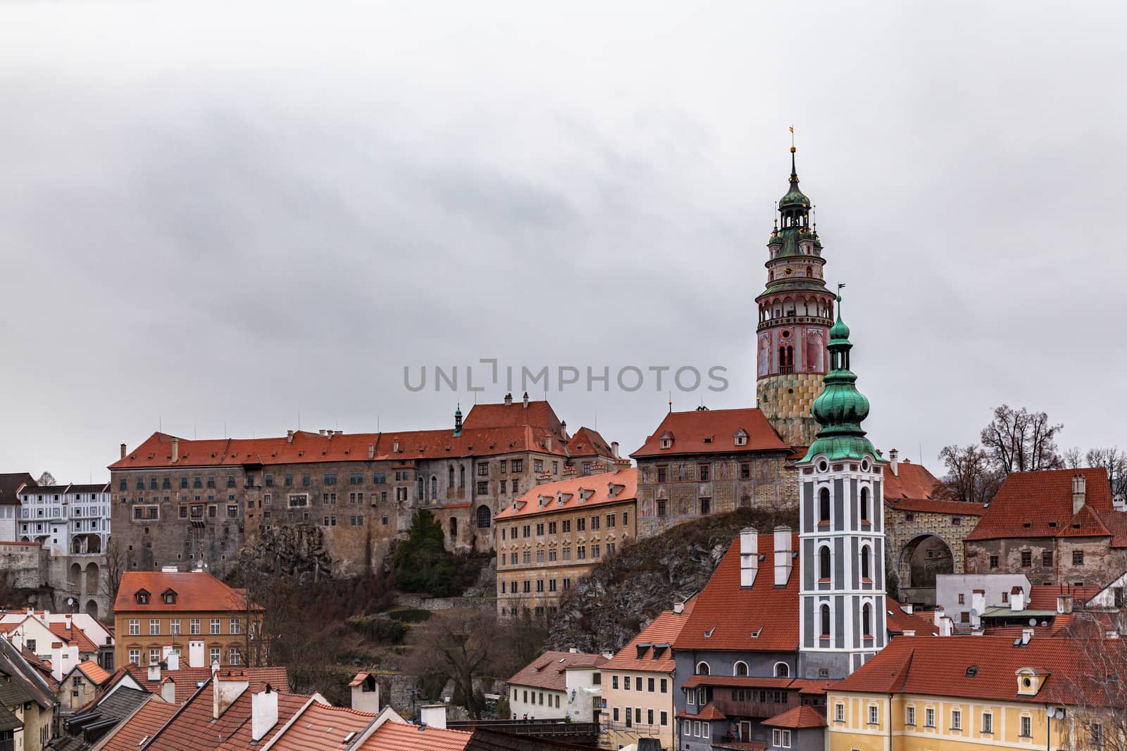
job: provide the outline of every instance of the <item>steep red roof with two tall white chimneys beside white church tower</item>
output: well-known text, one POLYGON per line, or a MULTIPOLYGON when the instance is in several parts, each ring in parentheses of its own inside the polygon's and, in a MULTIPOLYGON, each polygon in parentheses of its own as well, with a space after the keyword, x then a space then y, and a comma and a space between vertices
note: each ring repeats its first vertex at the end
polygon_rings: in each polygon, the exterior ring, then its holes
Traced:
MULTIPOLYGON (((799 549, 791 535, 791 549, 799 549)), ((739 538, 731 544, 674 642, 676 650, 792 652, 798 649, 799 560, 786 587, 774 585, 774 536, 760 534, 763 556, 752 587, 739 585, 739 538), (752 636, 753 633, 758 636, 752 636), (706 635, 708 634, 708 635, 706 635)))

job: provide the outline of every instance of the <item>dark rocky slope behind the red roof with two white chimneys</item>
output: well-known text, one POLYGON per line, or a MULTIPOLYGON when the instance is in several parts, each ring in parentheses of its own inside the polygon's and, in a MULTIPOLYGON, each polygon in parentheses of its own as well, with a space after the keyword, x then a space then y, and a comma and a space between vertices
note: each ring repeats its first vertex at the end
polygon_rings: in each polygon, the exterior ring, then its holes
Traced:
POLYGON ((737 509, 637 540, 600 563, 560 602, 545 649, 618 651, 662 610, 699 592, 744 527, 797 529, 797 511, 737 509))

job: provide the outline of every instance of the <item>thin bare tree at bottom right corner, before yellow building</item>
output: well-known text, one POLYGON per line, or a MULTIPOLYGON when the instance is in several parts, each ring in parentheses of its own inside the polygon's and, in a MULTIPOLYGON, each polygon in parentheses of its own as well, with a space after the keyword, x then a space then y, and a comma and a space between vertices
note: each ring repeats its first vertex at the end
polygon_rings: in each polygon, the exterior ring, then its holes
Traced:
POLYGON ((1054 676, 1049 700, 1065 707, 1073 749, 1127 751, 1127 640, 1108 638, 1122 624, 1099 613, 1077 613, 1070 628, 1075 663, 1054 676))

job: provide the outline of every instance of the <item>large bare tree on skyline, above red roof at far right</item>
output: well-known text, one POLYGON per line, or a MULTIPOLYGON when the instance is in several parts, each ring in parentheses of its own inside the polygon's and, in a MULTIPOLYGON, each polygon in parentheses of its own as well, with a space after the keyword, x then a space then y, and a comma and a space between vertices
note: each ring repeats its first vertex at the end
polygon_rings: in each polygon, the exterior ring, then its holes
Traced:
POLYGON ((1056 470, 1064 466, 1056 445, 1056 436, 1063 428, 1049 422, 1045 412, 1014 410, 1003 404, 994 409, 994 419, 983 428, 982 442, 1003 474, 1056 470))

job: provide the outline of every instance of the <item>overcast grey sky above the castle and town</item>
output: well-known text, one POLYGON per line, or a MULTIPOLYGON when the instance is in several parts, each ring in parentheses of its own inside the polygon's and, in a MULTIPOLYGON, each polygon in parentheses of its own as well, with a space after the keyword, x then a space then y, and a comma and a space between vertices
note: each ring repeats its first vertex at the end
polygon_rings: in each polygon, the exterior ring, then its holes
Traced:
MULTIPOLYGON (((0 471, 446 427, 464 373, 403 367, 479 358, 724 366, 674 409, 752 406, 791 124, 879 447, 938 471, 1002 402, 1127 444, 1125 14, 0 6, 0 471)), ((629 452, 665 386, 549 399, 629 452)))

